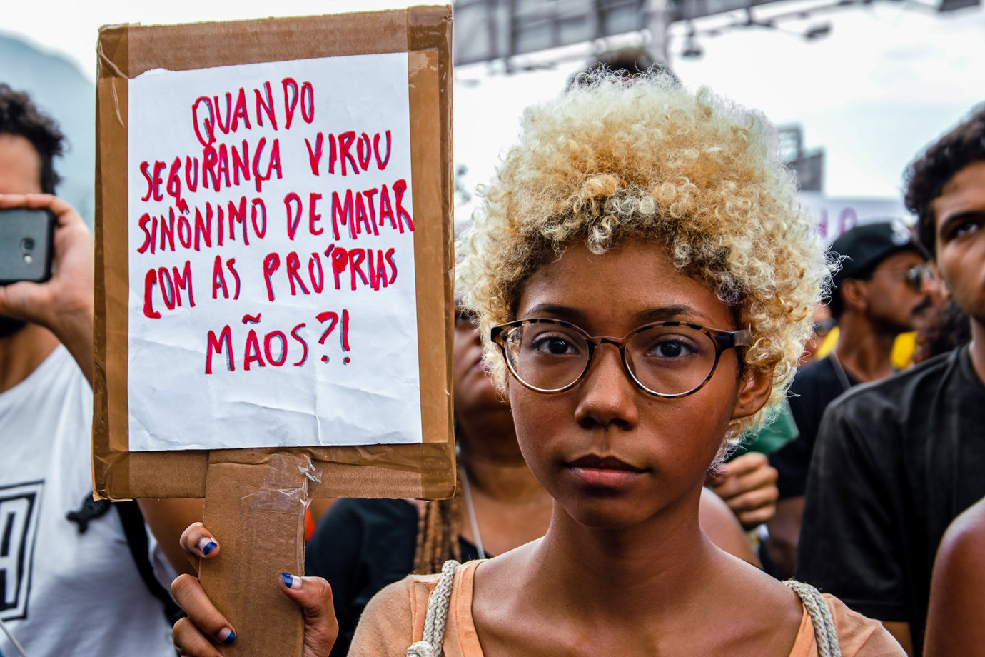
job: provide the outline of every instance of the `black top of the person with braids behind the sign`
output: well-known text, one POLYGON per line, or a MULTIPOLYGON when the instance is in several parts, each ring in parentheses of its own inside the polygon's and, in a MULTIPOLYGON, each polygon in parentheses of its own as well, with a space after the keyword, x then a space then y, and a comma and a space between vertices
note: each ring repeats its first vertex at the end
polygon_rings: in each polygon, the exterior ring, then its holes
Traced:
MULTIPOLYGON (((404 499, 340 499, 308 541, 304 571, 332 585, 339 638, 332 657, 349 652, 362 610, 376 593, 414 570, 418 510, 404 499)), ((479 558, 459 539, 462 561, 479 558)))

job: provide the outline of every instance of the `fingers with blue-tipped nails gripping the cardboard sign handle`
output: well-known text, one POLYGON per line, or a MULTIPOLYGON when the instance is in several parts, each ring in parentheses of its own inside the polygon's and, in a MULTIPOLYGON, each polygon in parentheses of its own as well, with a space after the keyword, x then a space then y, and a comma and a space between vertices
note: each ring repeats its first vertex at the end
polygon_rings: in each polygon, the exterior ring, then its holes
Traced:
MULTIPOLYGON (((222 549, 218 539, 200 522, 181 535, 181 548, 196 571, 201 559, 215 558, 222 549), (206 546, 208 555, 203 551, 206 546)), ((304 612, 304 657, 328 657, 339 630, 332 613, 332 588, 321 577, 287 574, 276 579, 276 584, 272 581, 270 585, 279 586, 304 612)), ((171 583, 171 595, 188 615, 175 623, 171 632, 174 646, 182 655, 220 657, 215 646, 236 640, 235 628, 209 600, 197 577, 178 575, 171 583)))

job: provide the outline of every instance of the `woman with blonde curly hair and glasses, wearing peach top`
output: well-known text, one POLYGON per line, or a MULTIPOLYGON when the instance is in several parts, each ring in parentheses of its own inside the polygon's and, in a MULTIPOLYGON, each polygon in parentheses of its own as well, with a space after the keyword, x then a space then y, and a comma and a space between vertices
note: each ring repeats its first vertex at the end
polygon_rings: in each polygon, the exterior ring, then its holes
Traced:
MULTIPOLYGON (((526 111, 457 265, 550 526, 390 584, 349 654, 901 655, 699 521, 705 473, 782 398, 828 273, 775 131, 657 74, 583 82, 526 111)), ((327 654, 324 580, 284 586, 305 655, 327 654)), ((224 619, 200 588, 176 597, 179 646, 210 654, 190 647, 224 619)))

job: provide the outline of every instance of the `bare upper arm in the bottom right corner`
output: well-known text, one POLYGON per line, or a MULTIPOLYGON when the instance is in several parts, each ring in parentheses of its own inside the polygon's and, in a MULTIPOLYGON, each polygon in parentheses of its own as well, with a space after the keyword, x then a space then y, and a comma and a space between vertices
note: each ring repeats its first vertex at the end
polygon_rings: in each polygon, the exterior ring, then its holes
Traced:
POLYGON ((957 516, 941 541, 931 578, 924 657, 985 655, 983 563, 985 499, 957 516))

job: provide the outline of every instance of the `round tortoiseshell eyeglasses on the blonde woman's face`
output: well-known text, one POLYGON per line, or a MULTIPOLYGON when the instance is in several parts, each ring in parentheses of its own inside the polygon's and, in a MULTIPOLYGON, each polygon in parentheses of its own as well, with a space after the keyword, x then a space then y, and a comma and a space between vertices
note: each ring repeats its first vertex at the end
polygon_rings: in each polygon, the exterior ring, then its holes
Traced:
POLYGON ((493 326, 490 338, 516 380, 537 392, 574 387, 591 366, 595 349, 609 344, 619 349, 629 379, 643 391, 684 397, 711 379, 725 350, 751 346, 753 333, 673 320, 644 324, 618 339, 590 336, 561 319, 536 318, 493 326))

